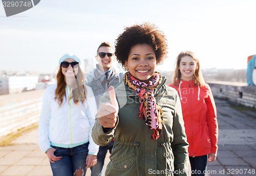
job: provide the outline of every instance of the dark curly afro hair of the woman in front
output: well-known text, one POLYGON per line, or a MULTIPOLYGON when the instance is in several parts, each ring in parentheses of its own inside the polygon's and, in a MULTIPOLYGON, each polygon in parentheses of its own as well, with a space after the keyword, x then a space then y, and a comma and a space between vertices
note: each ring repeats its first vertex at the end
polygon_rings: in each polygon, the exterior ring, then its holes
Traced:
POLYGON ((124 28, 115 41, 115 55, 117 61, 125 68, 125 60, 128 59, 131 48, 137 44, 151 45, 156 54, 157 64, 167 57, 167 40, 162 31, 154 24, 143 23, 124 28))

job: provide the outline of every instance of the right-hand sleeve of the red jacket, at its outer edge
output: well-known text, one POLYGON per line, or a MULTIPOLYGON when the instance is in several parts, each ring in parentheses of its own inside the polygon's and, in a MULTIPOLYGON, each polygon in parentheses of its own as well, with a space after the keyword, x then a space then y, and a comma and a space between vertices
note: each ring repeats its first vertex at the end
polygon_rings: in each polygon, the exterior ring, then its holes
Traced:
POLYGON ((206 122, 209 129, 210 142, 211 142, 211 153, 217 153, 218 151, 218 121, 217 121, 217 109, 212 96, 210 86, 206 84, 206 90, 208 97, 205 99, 207 104, 206 122))

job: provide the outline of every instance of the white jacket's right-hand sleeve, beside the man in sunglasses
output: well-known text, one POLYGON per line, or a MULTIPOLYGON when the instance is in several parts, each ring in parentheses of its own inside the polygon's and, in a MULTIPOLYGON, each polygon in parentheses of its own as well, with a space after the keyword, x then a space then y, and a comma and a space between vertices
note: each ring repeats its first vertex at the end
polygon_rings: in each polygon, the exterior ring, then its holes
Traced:
POLYGON ((92 88, 89 86, 86 86, 86 89, 87 89, 87 101, 88 101, 88 108, 86 110, 86 114, 90 124, 88 153, 90 155, 97 155, 99 146, 96 145, 92 139, 92 128, 93 128, 93 125, 95 124, 95 116, 97 114, 97 105, 96 105, 92 88))

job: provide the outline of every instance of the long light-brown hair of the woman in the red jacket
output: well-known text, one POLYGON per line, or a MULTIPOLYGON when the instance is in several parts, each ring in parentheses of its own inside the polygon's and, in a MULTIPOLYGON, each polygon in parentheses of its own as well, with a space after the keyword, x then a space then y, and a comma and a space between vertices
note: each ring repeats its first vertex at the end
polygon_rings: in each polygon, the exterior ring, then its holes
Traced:
POLYGON ((177 80, 179 80, 179 82, 181 80, 181 72, 180 72, 179 68, 180 68, 181 58, 184 57, 184 56, 190 56, 196 61, 197 69, 196 69, 195 74, 193 75, 193 80, 194 80, 195 84, 198 84, 200 87, 203 86, 205 84, 205 81, 204 81, 204 77, 203 77, 202 72, 201 72, 199 59, 198 59, 198 57, 196 57, 195 53, 193 53, 191 51, 182 51, 178 55, 178 57, 176 59, 176 67, 175 67, 175 70, 174 70, 174 79, 173 79, 174 85, 177 85, 177 80))

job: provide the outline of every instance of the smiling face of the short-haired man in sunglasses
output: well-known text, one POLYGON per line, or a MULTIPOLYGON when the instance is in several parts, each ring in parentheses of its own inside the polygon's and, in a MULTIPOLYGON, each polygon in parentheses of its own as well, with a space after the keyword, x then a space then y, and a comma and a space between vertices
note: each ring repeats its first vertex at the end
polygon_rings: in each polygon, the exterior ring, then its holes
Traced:
POLYGON ((95 57, 96 57, 96 60, 99 62, 100 68, 103 68, 105 72, 112 67, 113 61, 115 59, 114 49, 111 47, 105 47, 105 46, 100 47, 95 57), (99 53, 112 53, 113 55, 109 57, 108 55, 105 54, 103 58, 100 58, 99 53))

